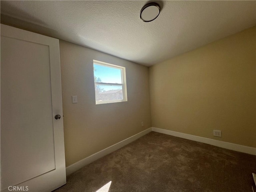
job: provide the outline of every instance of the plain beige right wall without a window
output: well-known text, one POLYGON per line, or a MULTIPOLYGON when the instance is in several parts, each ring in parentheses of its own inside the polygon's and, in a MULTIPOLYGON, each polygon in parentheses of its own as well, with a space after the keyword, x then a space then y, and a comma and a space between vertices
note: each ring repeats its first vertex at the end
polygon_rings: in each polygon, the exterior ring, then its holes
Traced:
POLYGON ((256 147, 255 31, 150 67, 152 126, 256 147))

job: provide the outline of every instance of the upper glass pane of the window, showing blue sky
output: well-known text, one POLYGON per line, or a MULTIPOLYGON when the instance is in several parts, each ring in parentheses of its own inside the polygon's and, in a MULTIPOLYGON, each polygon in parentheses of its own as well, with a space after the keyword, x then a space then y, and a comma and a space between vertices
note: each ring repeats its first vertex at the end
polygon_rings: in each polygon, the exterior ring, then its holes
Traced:
POLYGON ((121 69, 94 64, 94 81, 103 83, 122 83, 121 69))

